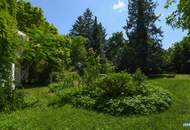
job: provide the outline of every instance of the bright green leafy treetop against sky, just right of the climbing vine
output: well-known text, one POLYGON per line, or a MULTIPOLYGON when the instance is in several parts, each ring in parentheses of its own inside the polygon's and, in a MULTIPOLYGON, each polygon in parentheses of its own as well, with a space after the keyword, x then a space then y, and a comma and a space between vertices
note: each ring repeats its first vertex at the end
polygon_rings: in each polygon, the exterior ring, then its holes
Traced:
POLYGON ((16 19, 18 29, 28 33, 28 29, 41 28, 46 32, 58 34, 56 27, 47 22, 41 8, 31 5, 25 0, 18 0, 17 3, 16 19))

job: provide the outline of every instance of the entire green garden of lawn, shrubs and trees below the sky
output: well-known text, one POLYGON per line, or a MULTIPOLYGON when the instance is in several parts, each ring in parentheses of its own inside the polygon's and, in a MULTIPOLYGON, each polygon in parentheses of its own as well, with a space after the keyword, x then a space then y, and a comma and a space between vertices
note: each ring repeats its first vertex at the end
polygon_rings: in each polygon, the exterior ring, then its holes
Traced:
POLYGON ((90 8, 61 34, 32 2, 1 0, 0 129, 188 128, 190 3, 163 7, 177 5, 166 23, 187 32, 169 48, 158 4, 130 0, 125 34, 108 37, 90 8))

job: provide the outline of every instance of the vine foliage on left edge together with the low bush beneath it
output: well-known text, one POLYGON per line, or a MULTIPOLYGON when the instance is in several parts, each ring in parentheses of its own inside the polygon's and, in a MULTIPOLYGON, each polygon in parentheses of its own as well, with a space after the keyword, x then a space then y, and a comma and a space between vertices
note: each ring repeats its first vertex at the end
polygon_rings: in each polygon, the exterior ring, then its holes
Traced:
POLYGON ((18 59, 16 1, 0 1, 0 112, 21 108, 24 95, 13 90, 11 65, 18 59))

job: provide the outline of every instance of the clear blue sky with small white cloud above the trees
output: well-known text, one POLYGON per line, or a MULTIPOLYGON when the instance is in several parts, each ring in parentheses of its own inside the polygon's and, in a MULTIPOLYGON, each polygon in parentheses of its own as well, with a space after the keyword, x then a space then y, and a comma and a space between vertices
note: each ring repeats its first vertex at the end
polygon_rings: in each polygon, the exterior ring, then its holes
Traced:
MULTIPOLYGON (((61 34, 67 34, 77 17, 86 8, 90 8, 98 20, 107 30, 108 37, 113 32, 124 31, 123 26, 127 19, 128 0, 28 0, 33 5, 43 9, 44 15, 53 23, 61 34)), ((158 26, 164 31, 163 47, 168 48, 172 43, 180 41, 185 32, 180 29, 173 30, 166 25, 165 17, 175 8, 164 9, 166 0, 157 0, 159 6, 156 13, 161 14, 158 26)))

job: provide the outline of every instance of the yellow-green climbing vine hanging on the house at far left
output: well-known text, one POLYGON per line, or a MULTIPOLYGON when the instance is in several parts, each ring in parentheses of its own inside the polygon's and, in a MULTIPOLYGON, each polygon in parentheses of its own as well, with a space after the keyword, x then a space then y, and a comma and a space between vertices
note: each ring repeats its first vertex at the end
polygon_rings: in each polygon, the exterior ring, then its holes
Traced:
POLYGON ((11 63, 16 59, 15 0, 0 1, 0 80, 10 85, 11 63))

